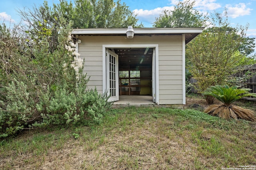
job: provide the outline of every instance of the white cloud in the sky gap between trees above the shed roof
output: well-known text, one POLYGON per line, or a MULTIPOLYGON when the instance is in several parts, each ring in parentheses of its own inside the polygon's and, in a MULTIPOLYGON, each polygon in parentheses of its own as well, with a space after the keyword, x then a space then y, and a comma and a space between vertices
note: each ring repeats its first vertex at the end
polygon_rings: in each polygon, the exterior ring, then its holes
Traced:
POLYGON ((163 10, 173 10, 173 6, 165 6, 162 8, 155 8, 153 10, 135 9, 134 14, 138 14, 137 18, 142 22, 153 23, 163 10))

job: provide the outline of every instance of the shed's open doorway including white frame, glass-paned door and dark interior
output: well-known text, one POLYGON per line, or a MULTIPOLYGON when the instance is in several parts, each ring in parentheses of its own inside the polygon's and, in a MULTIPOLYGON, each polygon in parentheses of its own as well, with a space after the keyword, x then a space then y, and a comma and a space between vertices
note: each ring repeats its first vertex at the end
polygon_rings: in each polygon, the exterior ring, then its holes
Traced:
POLYGON ((108 101, 121 102, 120 100, 125 96, 135 97, 136 95, 139 98, 148 96, 152 99, 151 102, 159 104, 158 45, 126 44, 103 45, 102 47, 103 77, 105 78, 103 78, 103 90, 106 90, 108 95, 111 96, 108 101), (126 74, 128 71, 128 76, 120 77, 119 80, 119 69, 120 71, 126 71, 120 72, 120 74, 126 74), (138 77, 138 74, 140 77, 138 77), (122 79, 128 79, 128 81, 122 82, 122 79), (131 79, 139 79, 140 81, 131 79), (112 90, 114 90, 114 93, 112 93, 112 90))

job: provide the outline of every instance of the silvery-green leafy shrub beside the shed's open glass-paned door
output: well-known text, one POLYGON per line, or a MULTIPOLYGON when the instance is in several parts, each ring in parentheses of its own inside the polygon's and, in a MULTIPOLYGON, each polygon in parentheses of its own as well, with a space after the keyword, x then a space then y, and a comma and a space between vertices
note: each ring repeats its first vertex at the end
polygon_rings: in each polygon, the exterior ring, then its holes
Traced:
POLYGON ((60 88, 44 94, 37 109, 41 112, 42 121, 33 125, 77 125, 101 123, 102 117, 111 107, 106 94, 99 94, 96 89, 86 90, 86 85, 78 84, 74 92, 60 88))

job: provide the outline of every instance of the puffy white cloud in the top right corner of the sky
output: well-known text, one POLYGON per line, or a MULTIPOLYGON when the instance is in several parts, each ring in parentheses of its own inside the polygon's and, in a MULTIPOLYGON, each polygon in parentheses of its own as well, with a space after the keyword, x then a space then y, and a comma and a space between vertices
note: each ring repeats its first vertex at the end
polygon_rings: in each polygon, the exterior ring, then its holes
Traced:
POLYGON ((252 9, 246 8, 244 3, 236 4, 234 7, 230 4, 226 5, 228 16, 231 18, 237 18, 239 16, 250 15, 252 9))

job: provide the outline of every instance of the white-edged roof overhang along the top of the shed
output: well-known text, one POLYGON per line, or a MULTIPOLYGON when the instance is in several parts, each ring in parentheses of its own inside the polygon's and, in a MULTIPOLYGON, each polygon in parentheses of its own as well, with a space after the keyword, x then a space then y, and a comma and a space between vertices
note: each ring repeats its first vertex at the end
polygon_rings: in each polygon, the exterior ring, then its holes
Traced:
MULTIPOLYGON (((134 36, 141 35, 182 35, 185 34, 186 44, 202 33, 204 27, 194 28, 134 28, 134 36)), ((93 36, 126 36, 126 28, 88 28, 73 29, 73 35, 93 35, 93 36)))

